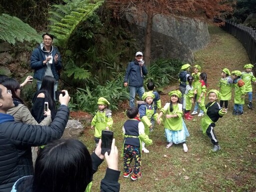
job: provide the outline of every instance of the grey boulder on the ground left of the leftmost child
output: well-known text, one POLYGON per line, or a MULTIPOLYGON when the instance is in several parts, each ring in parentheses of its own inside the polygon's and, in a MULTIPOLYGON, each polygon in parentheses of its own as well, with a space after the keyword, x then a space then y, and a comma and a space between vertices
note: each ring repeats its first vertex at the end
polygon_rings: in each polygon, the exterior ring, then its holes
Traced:
POLYGON ((61 138, 77 139, 83 132, 83 126, 78 120, 68 119, 65 130, 61 138))

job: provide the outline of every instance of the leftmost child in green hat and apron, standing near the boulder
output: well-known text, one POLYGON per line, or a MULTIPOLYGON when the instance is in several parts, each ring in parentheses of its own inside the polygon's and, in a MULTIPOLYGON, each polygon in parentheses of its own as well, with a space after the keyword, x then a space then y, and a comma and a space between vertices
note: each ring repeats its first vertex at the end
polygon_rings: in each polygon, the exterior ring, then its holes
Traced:
POLYGON ((104 97, 99 97, 97 104, 98 109, 91 120, 91 128, 95 127, 94 141, 96 146, 101 138, 101 131, 110 130, 113 124, 112 111, 107 108, 110 103, 104 97))

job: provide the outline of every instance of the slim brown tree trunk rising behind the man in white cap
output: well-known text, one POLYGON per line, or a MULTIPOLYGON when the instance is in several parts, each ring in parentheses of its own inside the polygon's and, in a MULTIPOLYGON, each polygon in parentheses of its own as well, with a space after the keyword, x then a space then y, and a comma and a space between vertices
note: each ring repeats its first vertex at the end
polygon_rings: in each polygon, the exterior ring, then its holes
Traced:
POLYGON ((152 23, 153 23, 153 13, 148 11, 147 21, 146 21, 146 33, 145 33, 145 52, 143 55, 146 65, 150 64, 152 23))

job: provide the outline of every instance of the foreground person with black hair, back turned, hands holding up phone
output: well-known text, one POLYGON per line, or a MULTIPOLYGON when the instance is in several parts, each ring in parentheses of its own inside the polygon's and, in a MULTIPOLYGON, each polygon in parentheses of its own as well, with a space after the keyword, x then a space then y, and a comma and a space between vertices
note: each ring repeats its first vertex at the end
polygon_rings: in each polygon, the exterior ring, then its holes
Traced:
POLYGON ((12 192, 84 192, 90 191, 92 175, 106 158, 107 169, 101 180, 100 191, 119 191, 118 151, 113 139, 111 151, 101 154, 101 139, 91 155, 86 146, 76 139, 59 139, 40 151, 34 175, 18 179, 12 192))

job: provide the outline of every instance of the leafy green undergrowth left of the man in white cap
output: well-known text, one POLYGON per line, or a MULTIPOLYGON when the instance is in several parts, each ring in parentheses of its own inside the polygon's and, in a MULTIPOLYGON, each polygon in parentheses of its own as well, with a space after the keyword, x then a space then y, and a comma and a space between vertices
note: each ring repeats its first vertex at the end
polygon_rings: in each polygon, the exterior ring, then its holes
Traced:
POLYGON ((93 113, 97 109, 97 99, 103 96, 110 102, 109 108, 116 110, 119 101, 129 99, 129 93, 126 88, 123 88, 122 83, 123 80, 119 76, 116 80, 106 81, 105 86, 97 85, 92 90, 89 90, 88 87, 77 88, 70 106, 72 109, 93 113))

